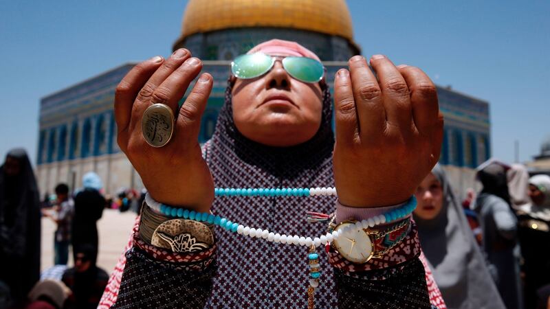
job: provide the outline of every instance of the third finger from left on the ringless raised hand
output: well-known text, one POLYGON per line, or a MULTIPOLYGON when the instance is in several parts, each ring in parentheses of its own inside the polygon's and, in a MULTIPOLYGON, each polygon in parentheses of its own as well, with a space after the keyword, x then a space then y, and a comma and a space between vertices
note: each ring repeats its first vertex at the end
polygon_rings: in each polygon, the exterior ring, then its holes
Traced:
POLYGON ((401 132, 410 130, 412 108, 405 79, 386 56, 372 56, 371 66, 380 81, 388 125, 397 126, 401 132))

